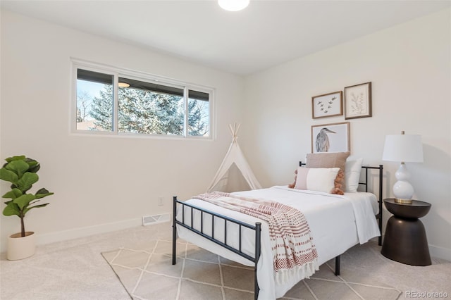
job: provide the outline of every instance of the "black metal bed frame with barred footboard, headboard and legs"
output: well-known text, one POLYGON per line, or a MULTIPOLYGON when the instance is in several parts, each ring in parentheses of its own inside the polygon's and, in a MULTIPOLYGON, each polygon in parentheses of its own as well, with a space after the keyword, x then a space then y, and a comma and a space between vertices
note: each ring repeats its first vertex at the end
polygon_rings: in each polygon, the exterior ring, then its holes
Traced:
MULTIPOLYGON (((305 163, 302 163, 299 161, 299 166, 305 165, 305 163)), ((383 188, 383 165, 379 165, 378 167, 371 167, 371 166, 365 166, 362 165, 362 169, 365 170, 365 181, 359 182, 359 185, 365 186, 365 192, 368 192, 368 173, 371 169, 379 170, 379 192, 378 192, 378 206, 379 211, 378 214, 375 215, 376 219, 378 220, 378 227, 379 230, 382 232, 382 188, 383 188)), ((259 283, 257 282, 257 263, 260 258, 261 253, 261 223, 257 222, 255 225, 249 225, 247 223, 241 222, 239 220, 235 220, 233 218, 229 218, 226 215, 221 215, 218 213, 214 213, 213 211, 207 211, 205 209, 199 208, 197 206, 192 206, 191 204, 186 204, 183 201, 180 201, 177 199, 177 196, 173 196, 173 236, 172 236, 172 264, 175 265, 176 263, 176 239, 177 239, 177 225, 180 225, 182 227, 185 227, 187 230, 190 230, 194 233, 197 233, 197 235, 200 235, 204 237, 205 239, 208 239, 211 242, 214 242, 220 246, 223 246, 224 248, 233 251, 235 254, 238 254, 239 256, 242 256, 246 258, 249 261, 252 261, 254 263, 254 299, 257 299, 259 296, 259 283), (182 208, 182 220, 177 220, 177 206, 181 206, 182 208), (189 208, 190 211, 190 224, 185 223, 185 207, 189 208), (193 214, 194 211, 199 211, 201 213, 201 224, 200 224, 200 230, 197 230, 194 228, 193 223, 193 214), (204 233, 204 214, 211 215, 211 236, 206 235, 204 233), (221 242, 218 239, 215 239, 214 237, 214 219, 218 218, 224 221, 224 242, 221 242), (234 223, 238 225, 238 248, 234 248, 233 246, 230 246, 227 242, 227 223, 234 223), (255 257, 249 256, 242 252, 241 249, 241 242, 242 242, 242 227, 249 228, 250 230, 255 231, 255 257)), ((382 235, 378 237, 378 245, 382 245, 382 235)), ((335 257, 335 275, 340 275, 340 255, 335 257)))

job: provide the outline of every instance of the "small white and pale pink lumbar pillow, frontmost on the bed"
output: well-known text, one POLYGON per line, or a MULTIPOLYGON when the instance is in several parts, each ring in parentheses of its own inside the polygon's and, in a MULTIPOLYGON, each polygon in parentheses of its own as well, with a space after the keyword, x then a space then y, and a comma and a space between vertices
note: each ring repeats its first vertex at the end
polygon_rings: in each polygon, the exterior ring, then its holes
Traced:
POLYGON ((332 193, 340 168, 297 168, 295 189, 332 193))

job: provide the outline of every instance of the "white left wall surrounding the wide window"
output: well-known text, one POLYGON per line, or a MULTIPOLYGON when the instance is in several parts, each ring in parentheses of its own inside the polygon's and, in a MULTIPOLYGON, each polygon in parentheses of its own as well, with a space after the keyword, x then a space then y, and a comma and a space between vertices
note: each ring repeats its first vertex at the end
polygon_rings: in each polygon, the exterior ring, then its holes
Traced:
MULTIPOLYGON (((49 206, 27 214, 26 229, 45 243, 140 225, 142 215, 171 212, 171 196, 204 192, 230 144, 228 124, 240 121, 242 89, 236 75, 2 11, 1 160, 37 159, 36 187, 55 192, 43 199, 49 206), (218 138, 70 134, 70 57, 214 87, 218 138), (163 206, 156 205, 160 196, 163 206)), ((6 182, 0 187, 1 194, 8 189, 6 182)), ((20 223, 0 220, 4 250, 20 223)))

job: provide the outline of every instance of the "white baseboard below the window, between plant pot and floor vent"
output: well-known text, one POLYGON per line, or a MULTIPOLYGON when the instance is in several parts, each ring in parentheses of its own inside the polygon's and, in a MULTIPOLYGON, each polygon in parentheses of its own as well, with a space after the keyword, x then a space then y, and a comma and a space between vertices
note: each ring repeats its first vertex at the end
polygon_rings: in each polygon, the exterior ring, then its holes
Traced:
POLYGON ((142 225, 141 218, 130 220, 123 220, 120 222, 106 223, 101 225, 94 225, 88 227, 74 228, 70 230, 63 230, 58 232, 45 233, 37 235, 36 244, 50 244, 54 242, 62 242, 68 239, 78 239, 80 237, 88 237, 89 235, 97 235, 105 232, 112 232, 116 230, 123 230, 131 227, 138 227, 142 225))

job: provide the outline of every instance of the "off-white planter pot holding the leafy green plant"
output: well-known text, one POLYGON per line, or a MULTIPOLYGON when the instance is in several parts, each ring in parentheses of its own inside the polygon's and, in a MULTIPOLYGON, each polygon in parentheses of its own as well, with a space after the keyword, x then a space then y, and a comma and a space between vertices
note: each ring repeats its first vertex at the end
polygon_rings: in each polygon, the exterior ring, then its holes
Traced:
POLYGON ((8 237, 8 249, 6 258, 10 261, 17 261, 32 256, 36 251, 36 235, 35 232, 25 232, 25 237, 15 233, 8 237))

